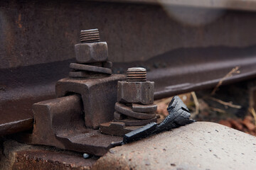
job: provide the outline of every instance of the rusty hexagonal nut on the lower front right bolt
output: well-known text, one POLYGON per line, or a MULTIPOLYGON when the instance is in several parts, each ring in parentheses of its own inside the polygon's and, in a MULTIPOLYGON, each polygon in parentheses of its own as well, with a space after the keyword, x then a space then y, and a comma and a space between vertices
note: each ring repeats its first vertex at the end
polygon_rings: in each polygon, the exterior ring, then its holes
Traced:
POLYGON ((152 104, 154 102, 154 82, 118 81, 117 101, 124 103, 152 104))

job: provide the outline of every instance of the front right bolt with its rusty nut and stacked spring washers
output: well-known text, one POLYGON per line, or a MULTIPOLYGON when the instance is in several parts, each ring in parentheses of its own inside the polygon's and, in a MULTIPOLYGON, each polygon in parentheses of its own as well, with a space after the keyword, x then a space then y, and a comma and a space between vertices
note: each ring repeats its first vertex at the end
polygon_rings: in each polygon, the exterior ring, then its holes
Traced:
POLYGON ((146 69, 133 67, 127 70, 127 80, 118 81, 114 121, 127 126, 156 122, 157 106, 154 103, 154 82, 146 81, 146 69))

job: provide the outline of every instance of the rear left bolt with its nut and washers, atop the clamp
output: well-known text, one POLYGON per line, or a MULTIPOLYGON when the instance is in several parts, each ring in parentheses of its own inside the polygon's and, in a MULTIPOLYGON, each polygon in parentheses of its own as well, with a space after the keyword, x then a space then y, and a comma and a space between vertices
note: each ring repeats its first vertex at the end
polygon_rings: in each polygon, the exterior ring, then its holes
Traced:
POLYGON ((93 77, 112 74, 108 62, 107 42, 100 42, 98 29, 81 30, 80 42, 75 45, 77 63, 70 63, 70 77, 93 77))

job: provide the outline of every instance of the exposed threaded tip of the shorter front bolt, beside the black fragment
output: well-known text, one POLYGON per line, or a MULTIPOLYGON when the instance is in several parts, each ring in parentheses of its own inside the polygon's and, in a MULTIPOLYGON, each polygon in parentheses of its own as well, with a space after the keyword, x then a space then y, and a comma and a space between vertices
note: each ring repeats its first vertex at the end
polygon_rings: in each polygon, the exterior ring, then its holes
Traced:
POLYGON ((146 69, 142 67, 127 69, 127 81, 146 81, 146 69))

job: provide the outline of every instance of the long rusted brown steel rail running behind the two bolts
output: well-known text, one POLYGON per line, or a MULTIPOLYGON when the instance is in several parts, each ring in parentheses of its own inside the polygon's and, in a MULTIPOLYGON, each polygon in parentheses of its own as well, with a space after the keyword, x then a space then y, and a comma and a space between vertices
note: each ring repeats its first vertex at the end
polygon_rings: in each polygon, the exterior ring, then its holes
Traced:
MULTIPOLYGON (((191 8, 174 8, 198 19, 188 12, 191 8)), ((155 81, 155 98, 211 88, 236 66, 240 74, 223 84, 256 75, 252 11, 208 8, 217 17, 210 22, 204 17, 198 26, 177 20, 159 4, 2 1, 0 11, 1 135, 31 129, 31 106, 53 98, 55 82, 68 76, 81 28, 102 30, 114 73, 146 67, 148 79, 155 81)))

